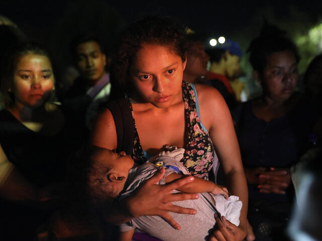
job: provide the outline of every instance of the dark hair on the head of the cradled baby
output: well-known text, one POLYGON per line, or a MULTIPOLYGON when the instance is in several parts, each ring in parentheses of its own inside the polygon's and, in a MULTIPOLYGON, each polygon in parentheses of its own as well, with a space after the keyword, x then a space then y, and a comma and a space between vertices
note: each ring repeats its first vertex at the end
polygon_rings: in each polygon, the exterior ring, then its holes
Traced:
POLYGON ((96 163, 95 156, 102 148, 91 146, 81 149, 72 158, 68 168, 68 177, 72 184, 74 199, 82 199, 86 206, 102 208, 112 201, 113 185, 107 185, 107 173, 111 166, 96 163), (104 183, 104 185, 103 185, 104 183))

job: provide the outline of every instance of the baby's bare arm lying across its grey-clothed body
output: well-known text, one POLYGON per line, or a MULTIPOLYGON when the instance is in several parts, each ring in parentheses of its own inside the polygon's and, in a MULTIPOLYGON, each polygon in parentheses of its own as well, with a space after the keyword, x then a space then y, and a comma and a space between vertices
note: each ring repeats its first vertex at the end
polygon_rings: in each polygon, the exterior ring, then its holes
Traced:
MULTIPOLYGON (((180 175, 178 173, 171 173, 168 176, 166 176, 166 183, 182 178, 182 176, 183 175, 180 175)), ((228 199, 227 188, 198 177, 195 177, 195 180, 193 182, 183 185, 180 188, 177 188, 176 190, 186 193, 210 192, 212 194, 222 194, 225 197, 225 199, 228 199)))

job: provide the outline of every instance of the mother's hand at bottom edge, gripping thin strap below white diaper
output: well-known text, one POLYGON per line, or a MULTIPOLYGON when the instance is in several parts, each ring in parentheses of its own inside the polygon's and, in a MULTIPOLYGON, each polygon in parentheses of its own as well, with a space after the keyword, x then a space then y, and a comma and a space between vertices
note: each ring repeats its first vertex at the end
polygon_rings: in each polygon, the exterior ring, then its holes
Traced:
POLYGON ((236 226, 228 221, 224 216, 220 217, 217 213, 214 214, 217 224, 217 229, 209 237, 209 241, 241 241, 246 237, 246 230, 240 226, 236 226))

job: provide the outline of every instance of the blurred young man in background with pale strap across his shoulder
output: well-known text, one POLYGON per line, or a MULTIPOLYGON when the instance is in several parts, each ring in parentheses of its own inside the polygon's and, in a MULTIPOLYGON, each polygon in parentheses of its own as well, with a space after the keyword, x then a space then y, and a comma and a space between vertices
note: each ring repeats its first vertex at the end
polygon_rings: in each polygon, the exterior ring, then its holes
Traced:
POLYGON ((77 36, 70 45, 73 63, 79 73, 65 93, 62 103, 78 125, 79 138, 86 140, 99 104, 109 99, 110 75, 103 44, 92 34, 77 36))

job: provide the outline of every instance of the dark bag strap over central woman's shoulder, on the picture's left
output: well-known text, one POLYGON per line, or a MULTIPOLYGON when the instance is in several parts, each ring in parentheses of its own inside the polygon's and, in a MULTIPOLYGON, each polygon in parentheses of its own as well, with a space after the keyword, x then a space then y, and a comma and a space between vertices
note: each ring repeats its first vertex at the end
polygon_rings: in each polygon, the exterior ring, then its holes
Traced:
POLYGON ((119 98, 102 103, 111 111, 117 135, 117 152, 124 151, 133 157, 134 123, 127 98, 119 98))

